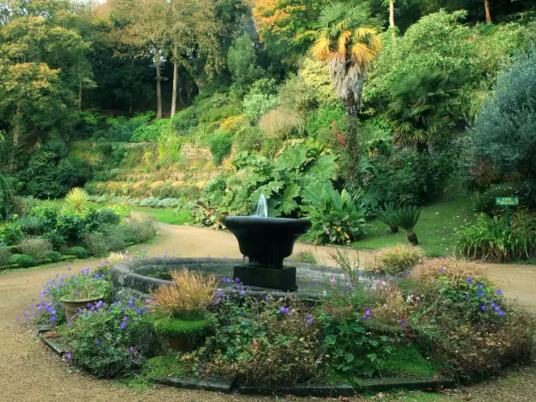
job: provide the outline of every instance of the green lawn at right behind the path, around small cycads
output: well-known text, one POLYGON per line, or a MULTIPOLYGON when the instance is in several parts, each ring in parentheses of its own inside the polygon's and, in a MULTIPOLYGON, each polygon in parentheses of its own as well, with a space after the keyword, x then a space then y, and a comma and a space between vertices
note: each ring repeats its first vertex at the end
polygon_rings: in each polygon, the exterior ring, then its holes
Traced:
MULTIPOLYGON (((456 232, 474 217, 473 198, 459 196, 448 202, 424 205, 423 213, 415 226, 415 233, 428 256, 452 255, 456 245, 456 232)), ((389 227, 378 220, 371 222, 367 234, 352 243, 353 247, 379 249, 397 243, 408 243, 406 230, 390 233, 389 227)))

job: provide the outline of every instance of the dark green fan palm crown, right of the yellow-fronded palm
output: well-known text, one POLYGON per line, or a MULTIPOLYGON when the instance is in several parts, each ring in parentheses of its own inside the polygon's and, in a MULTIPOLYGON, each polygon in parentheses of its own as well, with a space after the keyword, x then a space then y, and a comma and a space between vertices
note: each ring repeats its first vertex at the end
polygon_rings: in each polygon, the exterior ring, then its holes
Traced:
POLYGON ((398 141, 425 147, 447 123, 453 94, 448 89, 448 75, 439 70, 412 71, 396 82, 391 88, 387 118, 398 141))

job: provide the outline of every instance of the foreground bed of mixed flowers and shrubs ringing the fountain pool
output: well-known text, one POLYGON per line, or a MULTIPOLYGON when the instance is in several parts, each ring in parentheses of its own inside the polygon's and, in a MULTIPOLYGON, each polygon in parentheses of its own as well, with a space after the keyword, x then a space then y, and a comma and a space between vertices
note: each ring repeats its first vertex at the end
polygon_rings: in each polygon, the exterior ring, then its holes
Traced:
POLYGON ((529 359, 532 316, 511 306, 474 265, 440 264, 401 281, 359 281, 343 262, 344 282, 328 281, 329 292, 319 289, 314 300, 248 295, 239 279, 223 278, 226 288, 217 289, 214 278, 182 272, 153 299, 113 301, 107 293, 76 320, 62 315, 65 294, 109 289, 105 264, 49 281, 29 315, 54 322, 70 348, 66 358, 89 373, 176 378, 171 382, 206 389, 214 378, 244 392, 307 386, 319 395, 339 383, 376 387, 365 379, 383 377, 430 386, 426 381, 449 383, 449 376, 478 380, 529 359), (163 336, 188 331, 198 332, 200 343, 170 352, 163 336))

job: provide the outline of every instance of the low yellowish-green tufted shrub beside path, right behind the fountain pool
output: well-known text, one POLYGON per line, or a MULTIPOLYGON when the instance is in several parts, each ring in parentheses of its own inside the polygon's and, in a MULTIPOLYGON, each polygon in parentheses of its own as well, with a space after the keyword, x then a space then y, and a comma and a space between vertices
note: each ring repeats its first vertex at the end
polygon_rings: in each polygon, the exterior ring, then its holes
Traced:
POLYGON ((397 244, 380 250, 374 268, 381 273, 394 275, 410 271, 422 256, 423 250, 420 247, 397 244))

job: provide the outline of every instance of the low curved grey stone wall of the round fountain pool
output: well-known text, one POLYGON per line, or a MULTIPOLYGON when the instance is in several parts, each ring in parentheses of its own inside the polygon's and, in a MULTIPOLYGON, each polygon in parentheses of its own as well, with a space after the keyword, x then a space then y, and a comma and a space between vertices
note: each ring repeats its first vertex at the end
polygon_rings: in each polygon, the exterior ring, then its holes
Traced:
MULTIPOLYGON (((148 257, 130 261, 122 261, 114 264, 111 270, 113 282, 113 297, 120 300, 125 297, 148 298, 150 291, 160 285, 172 285, 172 281, 147 276, 155 276, 158 273, 166 273, 172 270, 188 268, 189 271, 201 271, 214 273, 218 277, 232 277, 234 265, 243 264, 239 259, 228 258, 180 258, 180 257, 148 257)), ((339 283, 344 283, 345 278, 337 267, 314 265, 314 264, 293 264, 297 267, 297 283, 305 282, 312 284, 314 281, 328 283, 335 279, 339 283)), ((377 275, 371 272, 359 271, 360 280, 370 280, 377 275)), ((303 287, 297 292, 287 293, 268 289, 247 289, 249 294, 264 294, 270 291, 273 296, 281 297, 318 297, 321 289, 312 289, 313 286, 303 287)))

